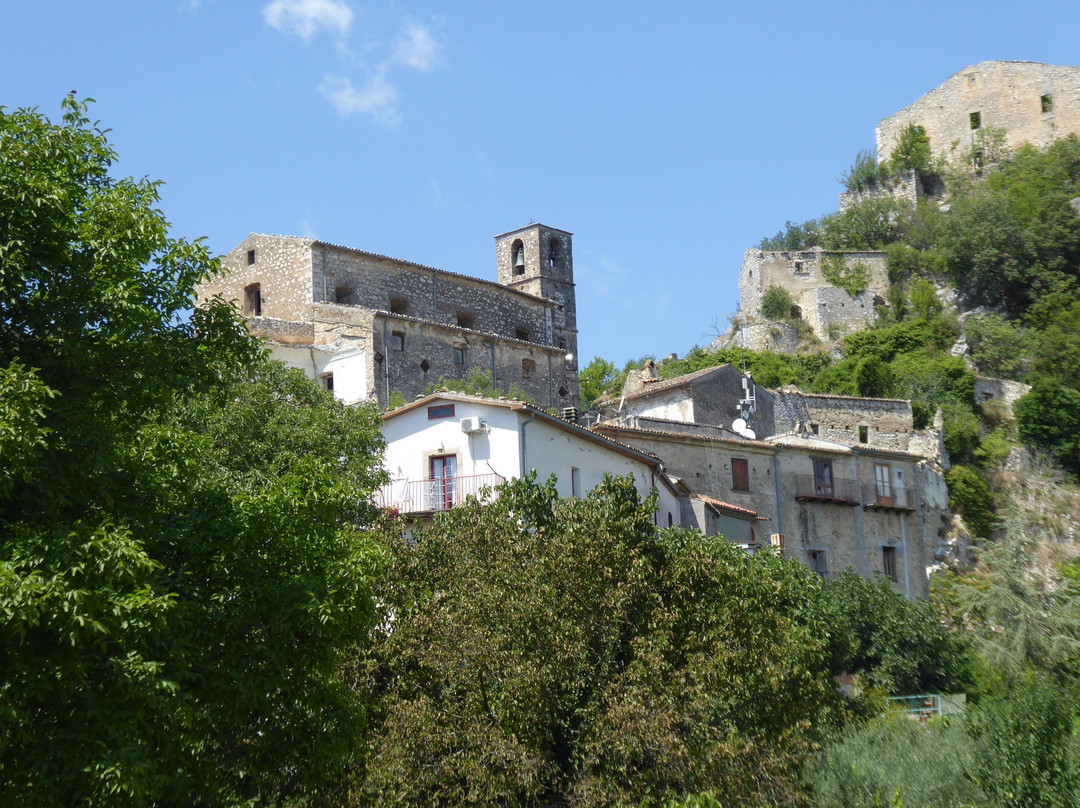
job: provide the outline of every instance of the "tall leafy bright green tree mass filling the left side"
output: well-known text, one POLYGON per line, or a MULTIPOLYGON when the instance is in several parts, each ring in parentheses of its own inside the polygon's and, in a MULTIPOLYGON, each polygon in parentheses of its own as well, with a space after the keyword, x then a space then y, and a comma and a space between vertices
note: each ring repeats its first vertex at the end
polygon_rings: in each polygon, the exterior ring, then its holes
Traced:
POLYGON ((69 97, 0 110, 0 802, 283 802, 347 764, 374 414, 269 366, 69 97))

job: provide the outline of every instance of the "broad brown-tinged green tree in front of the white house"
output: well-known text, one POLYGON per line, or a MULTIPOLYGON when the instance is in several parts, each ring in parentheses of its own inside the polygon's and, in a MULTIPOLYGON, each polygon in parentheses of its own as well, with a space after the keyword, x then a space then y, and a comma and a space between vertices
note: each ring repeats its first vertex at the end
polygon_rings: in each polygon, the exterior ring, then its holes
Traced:
POLYGON ((831 698, 822 583, 658 531, 630 480, 517 481, 395 542, 377 587, 380 805, 784 803, 831 698), (391 617, 392 616, 392 617, 391 617))

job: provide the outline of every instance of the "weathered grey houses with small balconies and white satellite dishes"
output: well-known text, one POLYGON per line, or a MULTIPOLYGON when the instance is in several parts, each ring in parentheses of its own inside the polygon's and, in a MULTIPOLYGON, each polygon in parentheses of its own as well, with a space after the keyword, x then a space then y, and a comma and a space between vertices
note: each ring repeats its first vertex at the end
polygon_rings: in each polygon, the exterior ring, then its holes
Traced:
POLYGON ((926 595, 949 516, 940 435, 914 429, 908 401, 741 379, 723 365, 630 382, 602 403, 595 429, 662 457, 706 500, 754 511, 766 520, 759 537, 826 578, 882 573, 907 596, 926 595))

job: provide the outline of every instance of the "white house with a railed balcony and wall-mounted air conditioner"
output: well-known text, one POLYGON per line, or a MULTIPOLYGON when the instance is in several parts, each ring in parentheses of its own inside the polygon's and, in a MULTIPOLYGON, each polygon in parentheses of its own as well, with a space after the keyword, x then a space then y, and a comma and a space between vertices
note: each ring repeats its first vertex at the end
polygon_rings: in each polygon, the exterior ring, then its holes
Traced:
POLYGON ((378 504, 403 513, 446 510, 536 470, 559 496, 582 497, 605 474, 632 474, 642 497, 659 493, 656 521, 683 525, 679 491, 652 455, 521 401, 434 393, 382 416, 391 482, 378 504))

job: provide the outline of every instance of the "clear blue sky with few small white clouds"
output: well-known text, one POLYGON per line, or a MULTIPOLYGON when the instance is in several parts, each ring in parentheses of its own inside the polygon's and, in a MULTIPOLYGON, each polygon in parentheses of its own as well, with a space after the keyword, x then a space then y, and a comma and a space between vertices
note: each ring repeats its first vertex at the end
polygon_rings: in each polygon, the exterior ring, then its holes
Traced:
POLYGON ((579 350, 726 327, 742 254, 835 211, 874 126, 986 59, 1080 63, 1080 5, 0 0, 0 105, 96 99, 174 234, 311 235, 495 278, 575 233, 579 350))

